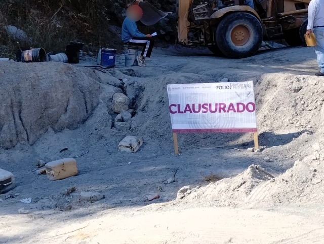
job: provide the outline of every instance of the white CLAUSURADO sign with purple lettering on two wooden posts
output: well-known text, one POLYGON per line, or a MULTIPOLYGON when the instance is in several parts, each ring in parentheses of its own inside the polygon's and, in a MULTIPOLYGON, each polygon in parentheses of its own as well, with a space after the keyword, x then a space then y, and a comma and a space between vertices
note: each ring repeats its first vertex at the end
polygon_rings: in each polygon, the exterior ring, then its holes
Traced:
POLYGON ((253 81, 167 85, 175 151, 177 133, 253 132, 258 149, 253 81))

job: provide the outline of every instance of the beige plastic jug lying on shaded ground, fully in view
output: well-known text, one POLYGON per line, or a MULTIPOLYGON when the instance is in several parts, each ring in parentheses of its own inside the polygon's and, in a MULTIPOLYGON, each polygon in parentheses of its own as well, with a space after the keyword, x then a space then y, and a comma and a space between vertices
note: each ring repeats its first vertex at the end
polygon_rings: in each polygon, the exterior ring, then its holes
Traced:
POLYGON ((77 174, 76 161, 73 158, 59 159, 46 164, 46 175, 51 181, 63 180, 77 174))

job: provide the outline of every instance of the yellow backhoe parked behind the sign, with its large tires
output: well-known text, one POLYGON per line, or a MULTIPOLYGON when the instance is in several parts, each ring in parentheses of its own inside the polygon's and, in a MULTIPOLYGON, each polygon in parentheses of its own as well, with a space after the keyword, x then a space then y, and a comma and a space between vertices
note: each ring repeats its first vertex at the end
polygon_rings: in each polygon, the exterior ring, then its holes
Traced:
MULTIPOLYGON (((137 1, 145 25, 168 15, 137 1)), ((244 58, 254 55, 263 40, 285 39, 291 46, 305 42, 310 0, 254 0, 254 9, 245 6, 244 0, 209 1, 177 0, 177 43, 206 46, 215 54, 244 58)))

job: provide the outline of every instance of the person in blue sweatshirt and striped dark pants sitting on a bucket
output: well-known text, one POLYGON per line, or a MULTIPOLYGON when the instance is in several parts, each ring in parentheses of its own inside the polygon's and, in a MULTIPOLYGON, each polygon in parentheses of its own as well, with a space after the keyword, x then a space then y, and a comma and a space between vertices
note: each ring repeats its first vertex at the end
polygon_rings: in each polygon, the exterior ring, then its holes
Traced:
POLYGON ((143 11, 138 5, 131 5, 126 11, 127 17, 121 28, 121 40, 125 44, 143 46, 141 55, 136 57, 138 65, 144 67, 146 65, 145 57, 150 57, 154 45, 150 34, 143 34, 137 29, 136 21, 143 16, 143 11))

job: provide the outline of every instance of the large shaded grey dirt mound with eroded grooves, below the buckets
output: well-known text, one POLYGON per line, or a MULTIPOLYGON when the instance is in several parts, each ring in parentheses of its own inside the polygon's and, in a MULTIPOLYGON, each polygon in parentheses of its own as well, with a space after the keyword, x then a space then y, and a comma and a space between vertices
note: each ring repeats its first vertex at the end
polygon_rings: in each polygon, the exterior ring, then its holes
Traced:
POLYGON ((0 76, 0 147, 5 149, 32 145, 49 127, 77 128, 101 100, 108 111, 113 93, 120 91, 91 69, 63 63, 2 62, 0 76))

